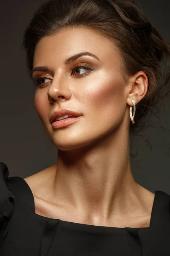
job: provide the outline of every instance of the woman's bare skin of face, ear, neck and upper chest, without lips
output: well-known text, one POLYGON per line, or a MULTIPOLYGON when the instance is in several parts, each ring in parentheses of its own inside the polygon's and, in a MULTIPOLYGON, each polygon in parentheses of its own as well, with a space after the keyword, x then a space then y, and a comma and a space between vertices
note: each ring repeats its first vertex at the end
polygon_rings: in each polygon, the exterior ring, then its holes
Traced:
MULTIPOLYGON (((109 39, 88 28, 62 29, 42 38, 34 52, 35 107, 45 133, 58 148, 57 162, 24 180, 34 195, 35 213, 106 227, 149 227, 154 194, 133 178, 129 127, 132 99, 147 93, 147 75, 125 80, 122 55, 109 39), (69 64, 79 52, 91 52, 69 64), (86 65, 85 68, 72 67, 86 65), (49 117, 66 108, 82 115, 54 129, 49 117)), ((136 111, 137 108, 136 108, 136 111)))

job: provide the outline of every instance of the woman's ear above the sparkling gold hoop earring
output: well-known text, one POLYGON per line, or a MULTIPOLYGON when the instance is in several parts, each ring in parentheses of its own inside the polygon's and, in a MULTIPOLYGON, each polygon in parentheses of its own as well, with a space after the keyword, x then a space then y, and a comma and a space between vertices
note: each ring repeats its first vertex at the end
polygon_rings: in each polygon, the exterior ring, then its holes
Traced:
POLYGON ((133 106, 132 99, 137 104, 147 93, 148 78, 146 73, 139 71, 130 78, 130 91, 128 92, 127 104, 133 106))

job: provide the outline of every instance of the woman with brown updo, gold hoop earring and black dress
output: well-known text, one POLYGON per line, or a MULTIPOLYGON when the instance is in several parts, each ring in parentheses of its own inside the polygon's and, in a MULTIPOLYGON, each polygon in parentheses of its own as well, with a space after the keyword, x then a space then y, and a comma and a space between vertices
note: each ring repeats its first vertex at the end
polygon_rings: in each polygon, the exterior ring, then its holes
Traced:
POLYGON ((123 0, 48 1, 23 46, 58 157, 25 179, 1 163, 0 255, 170 255, 170 195, 136 183, 129 150, 170 47, 123 0))

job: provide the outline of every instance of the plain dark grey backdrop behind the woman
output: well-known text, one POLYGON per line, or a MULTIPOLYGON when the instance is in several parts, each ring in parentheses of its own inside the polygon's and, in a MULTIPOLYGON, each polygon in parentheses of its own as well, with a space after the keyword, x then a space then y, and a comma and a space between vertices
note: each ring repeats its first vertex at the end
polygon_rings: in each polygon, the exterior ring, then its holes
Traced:
MULTIPOLYGON (((0 3, 0 162, 9 169, 9 177, 28 177, 57 162, 57 148, 45 135, 34 107, 34 86, 28 77, 22 49, 23 34, 42 0, 4 0, 0 3)), ((170 42, 170 1, 141 0, 144 13, 164 40, 170 42)), ((136 139, 137 157, 131 157, 136 182, 149 189, 170 194, 170 98, 164 102, 161 119, 150 119, 155 128, 136 139), (159 128, 164 126, 165 130, 159 128)))

